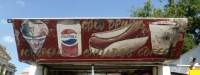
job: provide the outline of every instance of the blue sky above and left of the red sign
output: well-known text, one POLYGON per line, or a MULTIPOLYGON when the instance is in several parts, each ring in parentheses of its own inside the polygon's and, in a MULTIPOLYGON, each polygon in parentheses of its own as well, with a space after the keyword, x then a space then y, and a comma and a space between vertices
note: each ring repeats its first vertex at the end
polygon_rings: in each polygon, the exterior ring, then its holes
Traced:
MULTIPOLYGON (((128 10, 142 7, 146 0, 0 0, 0 44, 6 46, 17 68, 15 75, 29 71, 29 64, 18 61, 11 18, 130 17, 128 10)), ((162 8, 152 0, 154 7, 162 8)))

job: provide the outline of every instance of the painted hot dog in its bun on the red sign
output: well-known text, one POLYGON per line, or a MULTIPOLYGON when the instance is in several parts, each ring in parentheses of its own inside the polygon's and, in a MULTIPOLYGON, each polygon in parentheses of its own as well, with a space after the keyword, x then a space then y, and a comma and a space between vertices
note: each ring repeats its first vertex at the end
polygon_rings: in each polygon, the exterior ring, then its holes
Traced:
POLYGON ((120 50, 127 52, 127 50, 131 49, 130 52, 133 52, 144 45, 148 39, 148 37, 136 38, 136 36, 142 31, 142 26, 142 21, 139 21, 134 25, 130 24, 127 27, 94 33, 89 39, 90 50, 101 50, 99 53, 100 55, 108 52, 108 55, 106 56, 123 55, 123 53, 117 54, 120 50), (114 50, 115 48, 118 50, 115 52, 109 52, 109 50, 114 50))

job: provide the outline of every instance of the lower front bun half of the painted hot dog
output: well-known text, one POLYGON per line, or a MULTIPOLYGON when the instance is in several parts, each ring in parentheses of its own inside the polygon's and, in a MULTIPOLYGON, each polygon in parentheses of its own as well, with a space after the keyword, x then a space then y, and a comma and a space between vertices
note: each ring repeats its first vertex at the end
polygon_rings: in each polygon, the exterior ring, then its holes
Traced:
MULTIPOLYGON (((142 37, 142 38, 118 41, 118 42, 112 43, 111 45, 106 47, 104 50, 101 50, 99 52, 99 55, 103 55, 105 57, 124 56, 138 50, 140 47, 142 47, 146 43, 147 39, 148 37, 142 37)), ((93 48, 93 47, 90 47, 90 50, 92 52, 98 52, 97 51, 98 49, 93 48)))

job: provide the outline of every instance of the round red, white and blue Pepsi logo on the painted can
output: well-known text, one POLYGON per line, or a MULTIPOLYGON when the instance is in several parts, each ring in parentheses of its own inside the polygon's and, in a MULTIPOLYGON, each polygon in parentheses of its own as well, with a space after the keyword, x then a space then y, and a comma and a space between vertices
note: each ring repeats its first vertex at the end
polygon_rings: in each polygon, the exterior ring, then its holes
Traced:
POLYGON ((72 29, 65 29, 61 32, 62 44, 73 46, 77 44, 77 33, 72 29))

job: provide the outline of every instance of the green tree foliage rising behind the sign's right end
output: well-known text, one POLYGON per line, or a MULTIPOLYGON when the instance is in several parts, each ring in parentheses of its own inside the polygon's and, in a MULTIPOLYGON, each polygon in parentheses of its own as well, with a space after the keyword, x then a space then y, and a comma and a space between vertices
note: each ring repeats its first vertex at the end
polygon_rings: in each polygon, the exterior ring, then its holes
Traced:
MULTIPOLYGON (((162 2, 162 0, 158 1, 162 2)), ((131 17, 188 18, 188 30, 182 53, 200 43, 200 0, 168 0, 163 9, 155 8, 151 0, 147 0, 144 2, 144 7, 135 9, 132 6, 129 12, 131 17)))

